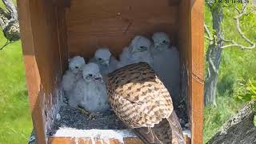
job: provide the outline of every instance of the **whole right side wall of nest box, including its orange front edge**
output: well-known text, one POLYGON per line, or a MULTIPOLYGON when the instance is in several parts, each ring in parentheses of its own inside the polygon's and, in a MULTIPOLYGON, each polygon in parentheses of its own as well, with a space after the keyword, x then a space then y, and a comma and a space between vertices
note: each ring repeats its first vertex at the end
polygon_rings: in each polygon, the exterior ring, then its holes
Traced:
POLYGON ((192 130, 192 143, 202 143, 203 85, 204 85, 204 2, 180 2, 179 47, 182 65, 186 67, 188 110, 192 130))

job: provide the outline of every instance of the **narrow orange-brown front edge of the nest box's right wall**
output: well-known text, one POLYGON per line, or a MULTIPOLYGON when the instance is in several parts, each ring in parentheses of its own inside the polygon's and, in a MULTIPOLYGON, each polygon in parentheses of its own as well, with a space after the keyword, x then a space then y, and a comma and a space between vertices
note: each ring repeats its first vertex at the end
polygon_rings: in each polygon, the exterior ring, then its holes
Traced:
POLYGON ((204 90, 204 1, 191 2, 192 143, 202 143, 204 90), (194 2, 194 3, 193 3, 194 2))

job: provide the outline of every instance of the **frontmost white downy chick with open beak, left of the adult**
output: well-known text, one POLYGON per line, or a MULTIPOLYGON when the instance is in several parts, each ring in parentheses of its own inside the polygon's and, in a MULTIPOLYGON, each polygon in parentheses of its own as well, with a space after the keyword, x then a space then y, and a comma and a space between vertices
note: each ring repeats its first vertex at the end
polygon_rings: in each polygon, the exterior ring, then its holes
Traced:
POLYGON ((95 63, 86 64, 82 69, 82 79, 74 85, 72 98, 69 105, 82 106, 90 113, 102 112, 110 109, 106 86, 102 80, 102 74, 95 63))

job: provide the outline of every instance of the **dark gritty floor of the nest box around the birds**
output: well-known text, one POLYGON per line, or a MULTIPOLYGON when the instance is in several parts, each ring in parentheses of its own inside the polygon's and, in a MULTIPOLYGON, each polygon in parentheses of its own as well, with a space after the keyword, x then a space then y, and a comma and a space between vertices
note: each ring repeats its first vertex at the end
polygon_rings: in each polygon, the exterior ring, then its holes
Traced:
MULTIPOLYGON (((174 106, 183 130, 187 130, 188 117, 186 113, 186 103, 180 102, 174 106)), ((126 126, 115 116, 113 111, 106 111, 104 113, 97 113, 93 116, 90 114, 83 114, 82 110, 62 103, 58 113, 60 119, 54 122, 54 130, 50 130, 49 135, 52 135, 60 128, 74 128, 77 130, 126 130, 126 126)))

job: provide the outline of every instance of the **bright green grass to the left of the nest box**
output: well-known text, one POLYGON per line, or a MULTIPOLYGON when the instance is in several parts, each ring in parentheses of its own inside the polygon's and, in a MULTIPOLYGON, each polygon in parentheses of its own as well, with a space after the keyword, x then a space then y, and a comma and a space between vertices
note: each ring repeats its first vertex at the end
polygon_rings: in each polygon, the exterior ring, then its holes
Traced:
MULTIPOLYGON (((0 30, 0 46, 5 42, 0 30)), ((1 144, 27 143, 32 131, 21 47, 18 41, 0 50, 1 144)))

